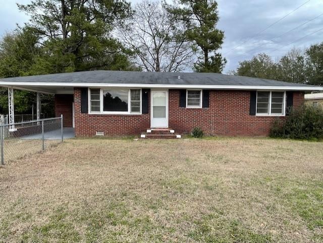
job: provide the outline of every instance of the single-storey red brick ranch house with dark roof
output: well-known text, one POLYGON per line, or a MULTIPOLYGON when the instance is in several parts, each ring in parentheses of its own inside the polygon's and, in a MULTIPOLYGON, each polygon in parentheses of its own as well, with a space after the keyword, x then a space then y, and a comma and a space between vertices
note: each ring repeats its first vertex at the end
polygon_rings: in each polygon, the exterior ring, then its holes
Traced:
POLYGON ((189 133, 267 135, 276 119, 323 87, 218 73, 84 71, 0 79, 55 94, 55 112, 77 137, 189 133), (154 134, 153 131, 156 133, 154 134), (146 133, 148 132, 148 133, 146 133))

